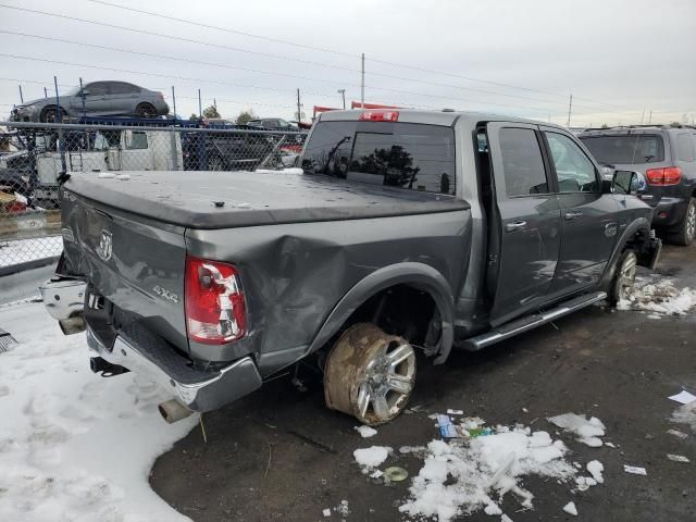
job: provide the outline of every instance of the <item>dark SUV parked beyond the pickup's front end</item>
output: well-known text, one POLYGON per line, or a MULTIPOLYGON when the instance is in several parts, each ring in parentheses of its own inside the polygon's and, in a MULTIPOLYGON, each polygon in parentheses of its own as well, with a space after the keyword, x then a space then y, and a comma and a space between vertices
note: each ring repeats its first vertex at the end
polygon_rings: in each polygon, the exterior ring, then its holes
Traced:
POLYGON ((696 127, 613 127, 580 135, 610 174, 629 169, 645 176, 638 195, 655 209, 652 225, 672 243, 696 236, 696 127))

